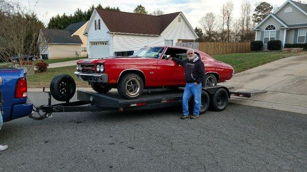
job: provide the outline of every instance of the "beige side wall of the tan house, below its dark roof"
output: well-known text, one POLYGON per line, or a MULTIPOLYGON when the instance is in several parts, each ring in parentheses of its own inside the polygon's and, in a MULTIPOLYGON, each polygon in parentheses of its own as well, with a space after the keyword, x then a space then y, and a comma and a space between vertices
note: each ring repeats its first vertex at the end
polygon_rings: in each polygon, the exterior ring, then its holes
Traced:
POLYGON ((66 45, 66 44, 50 44, 49 45, 49 59, 62 59, 77 57, 76 52, 80 57, 80 45, 66 45))

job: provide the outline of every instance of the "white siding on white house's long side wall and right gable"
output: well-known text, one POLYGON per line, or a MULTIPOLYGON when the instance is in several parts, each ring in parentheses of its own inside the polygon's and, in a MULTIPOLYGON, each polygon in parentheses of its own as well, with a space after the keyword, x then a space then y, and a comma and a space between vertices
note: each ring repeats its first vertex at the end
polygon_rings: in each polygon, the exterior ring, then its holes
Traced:
POLYGON ((180 14, 158 37, 115 34, 113 37, 113 52, 130 50, 137 51, 146 45, 164 45, 165 39, 173 40, 173 45, 176 45, 178 39, 195 40, 196 37, 193 35, 193 32, 180 14), (178 22, 178 17, 181 17, 181 22, 178 22))

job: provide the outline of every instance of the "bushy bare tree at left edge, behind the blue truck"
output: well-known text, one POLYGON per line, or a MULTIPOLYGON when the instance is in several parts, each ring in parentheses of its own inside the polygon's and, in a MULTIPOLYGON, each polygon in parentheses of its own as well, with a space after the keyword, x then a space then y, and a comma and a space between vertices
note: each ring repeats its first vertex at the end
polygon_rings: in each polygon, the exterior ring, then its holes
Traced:
POLYGON ((6 3, 5 6, 0 6, 0 59, 13 66, 17 61, 19 65, 23 65, 23 61, 40 55, 41 42, 38 35, 44 25, 38 20, 34 10, 19 8, 12 1, 0 1, 6 3))

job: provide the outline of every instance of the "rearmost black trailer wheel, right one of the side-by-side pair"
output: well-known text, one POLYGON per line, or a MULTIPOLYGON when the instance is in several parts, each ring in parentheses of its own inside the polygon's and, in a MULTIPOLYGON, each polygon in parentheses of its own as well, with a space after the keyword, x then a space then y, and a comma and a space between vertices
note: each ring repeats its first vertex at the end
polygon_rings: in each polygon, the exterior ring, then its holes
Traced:
POLYGON ((215 111, 223 111, 228 104, 228 92, 224 88, 218 89, 214 93, 211 102, 215 111))

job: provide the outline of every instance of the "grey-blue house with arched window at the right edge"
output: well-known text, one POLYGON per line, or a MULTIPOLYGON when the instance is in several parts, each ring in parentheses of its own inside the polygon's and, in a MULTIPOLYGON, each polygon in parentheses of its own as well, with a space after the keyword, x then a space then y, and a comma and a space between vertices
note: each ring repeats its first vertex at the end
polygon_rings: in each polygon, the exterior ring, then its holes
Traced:
POLYGON ((280 40, 284 44, 307 43, 307 5, 288 0, 274 13, 269 14, 254 28, 255 40, 280 40))

